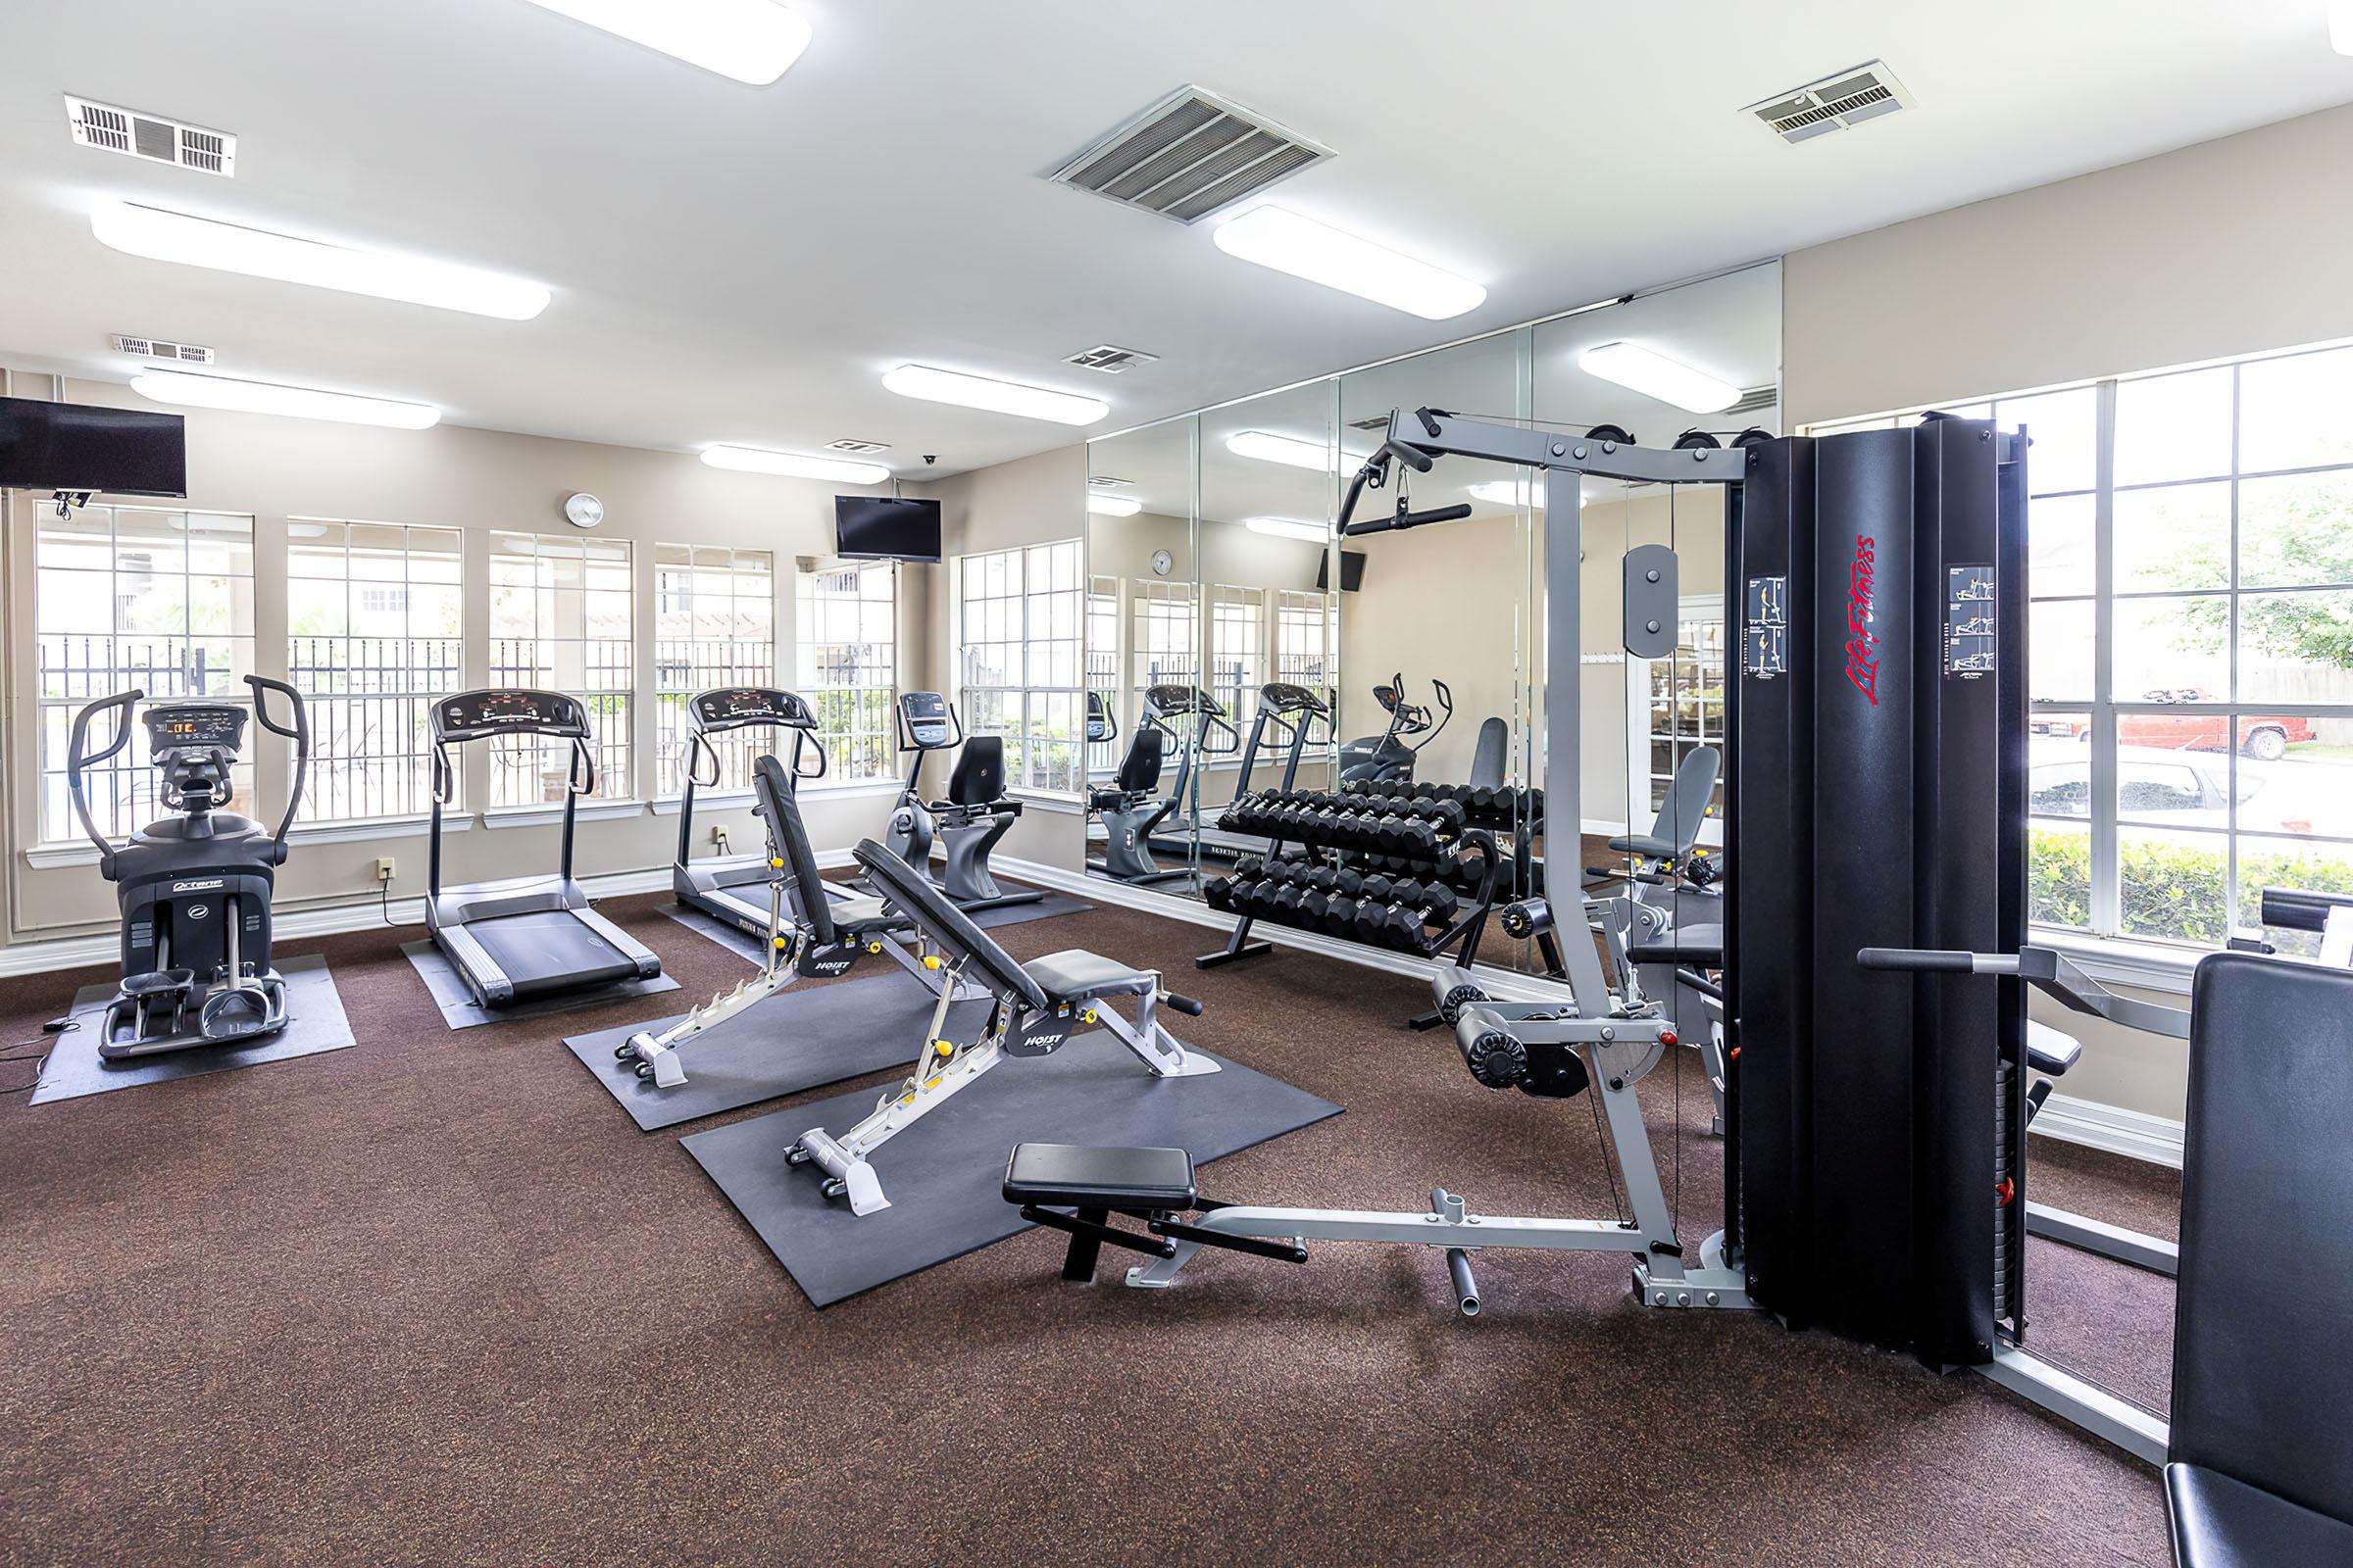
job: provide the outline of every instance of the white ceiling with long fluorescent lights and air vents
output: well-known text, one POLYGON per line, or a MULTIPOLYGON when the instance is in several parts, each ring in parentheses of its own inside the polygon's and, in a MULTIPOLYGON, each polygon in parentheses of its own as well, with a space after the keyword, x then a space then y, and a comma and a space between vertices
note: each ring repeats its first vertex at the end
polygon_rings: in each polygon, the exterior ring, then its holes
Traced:
POLYGON ((7 0, 0 355, 122 381, 106 334, 129 331, 466 425, 849 435, 955 473, 1078 433, 906 402, 880 371, 1092 393, 1111 430, 2353 99, 2320 0, 793 5, 816 40, 753 89, 522 0, 7 0), (1800 148, 1737 113, 1871 56, 1920 108, 1800 148), (1424 322, 1038 179, 1181 82, 1337 150, 1278 200, 1487 303, 1424 322), (80 150, 66 92, 233 132, 238 176, 80 150), (139 261, 89 237, 108 195, 555 303, 492 322, 139 261), (1165 357, 1056 364, 1104 341, 1165 357))

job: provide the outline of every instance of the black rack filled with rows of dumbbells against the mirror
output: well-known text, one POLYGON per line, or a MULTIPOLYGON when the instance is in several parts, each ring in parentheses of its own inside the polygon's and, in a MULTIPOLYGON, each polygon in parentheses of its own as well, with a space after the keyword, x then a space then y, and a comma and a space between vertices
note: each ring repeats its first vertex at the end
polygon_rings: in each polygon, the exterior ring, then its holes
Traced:
MULTIPOLYGON (((1360 945, 1381 945, 1391 952, 1407 952, 1421 959, 1435 959, 1452 950, 1454 961, 1466 969, 1478 959, 1478 945, 1494 910, 1504 856, 1492 832, 1468 825, 1466 811, 1445 811, 1435 802, 1414 802, 1412 816, 1407 816, 1407 802, 1374 802, 1362 795, 1334 795, 1327 790, 1271 790, 1266 795, 1245 795, 1226 806, 1219 827, 1264 837, 1268 846, 1257 865, 1245 860, 1235 865, 1233 875, 1219 877, 1202 889, 1209 907, 1233 907, 1233 896, 1266 882, 1268 867, 1306 867, 1308 872, 1332 872, 1334 879, 1353 877, 1360 889, 1377 877, 1412 879, 1424 891, 1442 886, 1454 896, 1454 914, 1438 933, 1431 933, 1428 922, 1424 922, 1409 936, 1369 943, 1355 931, 1353 922, 1346 929, 1334 929, 1332 922, 1287 919, 1285 912, 1273 907, 1240 910, 1233 936, 1226 938, 1219 952, 1205 952, 1193 959, 1198 969, 1217 969, 1219 964, 1273 952, 1273 943, 1252 940, 1249 936, 1252 926, 1261 919, 1360 945), (1381 806, 1393 809, 1384 811, 1381 806), (1297 846, 1299 853, 1287 853, 1287 844, 1297 846)), ((1402 910, 1405 905, 1391 903, 1384 907, 1402 910)), ((1428 905, 1417 898, 1414 907, 1428 905)), ((1297 905, 1292 905, 1292 912, 1297 912, 1297 905)), ((1384 931, 1398 931, 1395 919, 1384 931)), ((1426 1013, 1412 1023, 1417 1030, 1428 1030, 1442 1020, 1438 1013, 1426 1013)))

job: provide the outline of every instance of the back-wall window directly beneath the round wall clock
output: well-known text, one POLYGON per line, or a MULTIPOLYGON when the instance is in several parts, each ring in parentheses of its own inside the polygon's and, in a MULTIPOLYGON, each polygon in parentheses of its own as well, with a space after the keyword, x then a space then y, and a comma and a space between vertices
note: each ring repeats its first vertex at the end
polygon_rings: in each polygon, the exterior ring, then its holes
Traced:
MULTIPOLYGON (((635 588, 626 538, 489 538, 489 682, 565 691, 588 708, 598 799, 633 785, 635 588)), ((562 802, 567 741, 492 741, 489 804, 562 802)))

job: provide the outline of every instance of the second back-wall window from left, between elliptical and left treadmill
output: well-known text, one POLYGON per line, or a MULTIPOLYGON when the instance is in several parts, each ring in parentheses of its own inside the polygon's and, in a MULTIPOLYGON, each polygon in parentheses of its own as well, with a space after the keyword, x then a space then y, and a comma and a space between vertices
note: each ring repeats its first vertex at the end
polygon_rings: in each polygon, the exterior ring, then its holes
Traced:
POLYGON ((461 529, 398 522, 360 522, 334 517, 287 520, 287 684, 304 693, 311 708, 311 778, 304 790, 299 827, 336 823, 416 820, 433 799, 431 745, 426 710, 435 696, 466 689, 466 536, 461 529), (386 550, 398 538, 398 581, 353 576, 353 531, 362 529, 362 548, 386 550), (419 548, 440 545, 440 548, 419 548), (339 550, 341 576, 296 574, 299 557, 339 550), (447 562, 447 576, 419 576, 419 559, 447 562), (344 630, 296 632, 299 597, 294 583, 341 585, 344 630), (447 588, 456 599, 456 632, 449 637, 416 635, 414 588, 447 588), (353 628, 367 592, 400 590, 400 635, 360 635, 353 628), (424 644, 424 646, 421 646, 424 644), (367 658, 365 654, 374 654, 367 658), (351 736, 365 736, 358 750, 351 736), (402 743, 398 750, 384 741, 402 743), (372 799, 334 809, 344 790, 339 769, 358 776, 372 799))

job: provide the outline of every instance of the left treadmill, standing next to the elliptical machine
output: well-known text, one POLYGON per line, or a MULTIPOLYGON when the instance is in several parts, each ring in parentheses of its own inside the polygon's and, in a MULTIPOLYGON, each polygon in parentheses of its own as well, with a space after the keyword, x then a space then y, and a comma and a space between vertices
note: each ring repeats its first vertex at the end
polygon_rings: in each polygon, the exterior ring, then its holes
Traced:
POLYGON ((661 959, 588 907, 572 877, 579 797, 595 790, 588 710, 562 691, 499 686, 433 703, 433 846, 426 875, 426 929, 482 1006, 652 980, 661 959), (492 736, 555 736, 572 743, 565 773, 565 837, 553 877, 511 877, 442 889, 442 806, 456 795, 452 745, 492 736))

